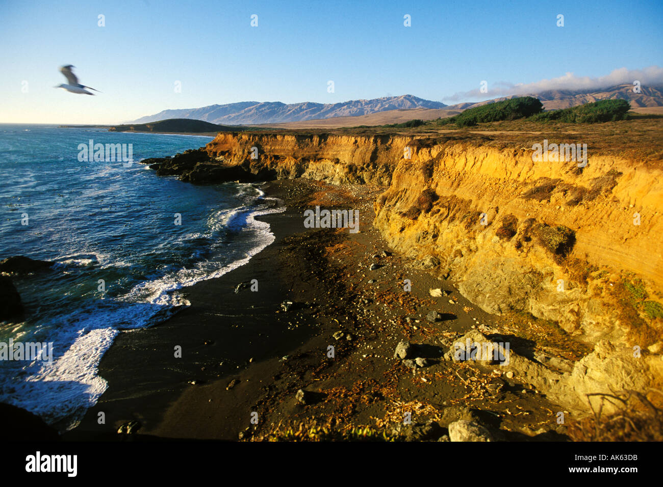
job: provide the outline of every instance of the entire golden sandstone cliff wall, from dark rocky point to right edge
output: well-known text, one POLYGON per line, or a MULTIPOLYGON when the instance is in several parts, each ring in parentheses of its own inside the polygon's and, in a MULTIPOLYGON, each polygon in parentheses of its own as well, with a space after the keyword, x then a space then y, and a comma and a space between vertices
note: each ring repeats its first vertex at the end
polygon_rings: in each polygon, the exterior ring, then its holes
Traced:
POLYGON ((594 347, 566 371, 521 363, 561 404, 586 409, 587 394, 661 388, 660 168, 591 150, 585 167, 534 162, 531 146, 445 136, 219 133, 200 152, 207 161, 157 169, 194 182, 385 186, 373 224, 392 248, 489 313, 526 311, 594 347))

